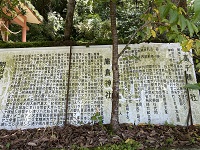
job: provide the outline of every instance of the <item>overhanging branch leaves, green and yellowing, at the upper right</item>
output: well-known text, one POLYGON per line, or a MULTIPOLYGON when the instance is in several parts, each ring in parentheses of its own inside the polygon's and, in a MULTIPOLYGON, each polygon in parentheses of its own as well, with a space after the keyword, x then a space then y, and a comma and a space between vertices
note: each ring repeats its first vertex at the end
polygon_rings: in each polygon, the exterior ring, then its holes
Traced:
POLYGON ((185 52, 192 48, 199 52, 200 40, 193 39, 193 37, 199 36, 196 19, 197 16, 200 16, 199 0, 195 0, 194 4, 194 9, 190 9, 191 13, 187 14, 183 8, 177 7, 169 0, 154 1, 151 10, 141 16, 145 22, 143 40, 165 37, 167 41, 181 43, 185 52))

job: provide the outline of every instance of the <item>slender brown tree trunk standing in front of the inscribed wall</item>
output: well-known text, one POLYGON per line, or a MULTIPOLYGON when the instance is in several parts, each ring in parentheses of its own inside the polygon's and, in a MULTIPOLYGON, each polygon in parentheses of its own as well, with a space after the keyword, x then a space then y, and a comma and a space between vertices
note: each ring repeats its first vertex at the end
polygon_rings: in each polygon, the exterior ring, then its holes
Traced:
POLYGON ((112 87, 112 113, 111 113, 111 126, 116 132, 119 128, 119 65, 118 65, 118 36, 116 25, 116 2, 110 0, 110 18, 111 18, 111 31, 113 40, 112 50, 112 71, 113 71, 113 87, 112 87))

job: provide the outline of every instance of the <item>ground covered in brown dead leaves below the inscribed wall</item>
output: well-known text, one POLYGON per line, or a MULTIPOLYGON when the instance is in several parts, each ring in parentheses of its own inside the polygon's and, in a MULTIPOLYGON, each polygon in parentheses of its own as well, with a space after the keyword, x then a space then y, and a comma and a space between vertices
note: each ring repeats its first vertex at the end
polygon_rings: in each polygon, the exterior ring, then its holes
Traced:
POLYGON ((117 134, 112 132, 109 125, 98 124, 78 127, 66 125, 40 129, 0 130, 0 149, 72 149, 73 145, 91 148, 122 143, 127 139, 139 142, 139 149, 199 148, 200 127, 121 124, 117 134))

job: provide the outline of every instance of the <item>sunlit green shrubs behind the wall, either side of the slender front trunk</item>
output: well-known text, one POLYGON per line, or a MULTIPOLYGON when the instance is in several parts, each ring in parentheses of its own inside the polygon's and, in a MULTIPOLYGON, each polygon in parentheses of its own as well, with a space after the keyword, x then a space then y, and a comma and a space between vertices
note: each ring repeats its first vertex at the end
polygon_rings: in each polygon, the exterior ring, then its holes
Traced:
MULTIPOLYGON (((74 15, 73 39, 99 43, 111 39, 110 0, 78 0, 74 15)), ((143 9, 136 9, 130 0, 117 1, 117 26, 119 41, 125 43, 141 24, 143 9)), ((110 44, 110 42, 109 42, 110 44)))

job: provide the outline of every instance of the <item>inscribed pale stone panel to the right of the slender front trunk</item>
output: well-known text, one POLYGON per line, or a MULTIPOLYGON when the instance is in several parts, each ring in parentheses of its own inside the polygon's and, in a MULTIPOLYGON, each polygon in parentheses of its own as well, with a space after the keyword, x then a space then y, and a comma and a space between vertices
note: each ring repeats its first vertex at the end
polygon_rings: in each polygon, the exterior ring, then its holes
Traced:
MULTIPOLYGON (((120 46, 122 49, 123 46, 120 46)), ((184 72, 195 83, 193 61, 179 44, 130 45, 120 58, 120 122, 186 125, 184 72)), ((193 121, 200 123, 198 91, 190 90, 193 121)))

